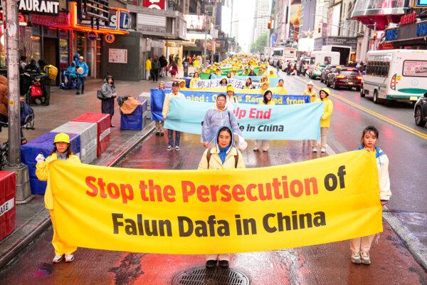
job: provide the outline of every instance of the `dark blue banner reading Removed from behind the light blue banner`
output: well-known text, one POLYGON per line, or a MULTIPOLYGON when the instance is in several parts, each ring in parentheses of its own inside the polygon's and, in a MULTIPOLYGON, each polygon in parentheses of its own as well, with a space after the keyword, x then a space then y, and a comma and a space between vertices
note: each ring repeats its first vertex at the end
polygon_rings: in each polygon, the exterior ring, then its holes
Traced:
MULTIPOLYGON (((164 94, 170 93, 171 90, 151 90, 151 111, 152 120, 163 120, 162 110, 164 102, 164 94)), ((191 90, 180 90, 179 92, 185 95, 187 100, 196 102, 216 102, 216 96, 221 92, 205 92, 205 91, 191 91, 191 90)), ((239 103, 246 104, 259 104, 263 100, 261 94, 243 94, 235 93, 234 95, 239 103)), ((276 105, 295 105, 310 103, 309 95, 273 95, 273 100, 276 105)))

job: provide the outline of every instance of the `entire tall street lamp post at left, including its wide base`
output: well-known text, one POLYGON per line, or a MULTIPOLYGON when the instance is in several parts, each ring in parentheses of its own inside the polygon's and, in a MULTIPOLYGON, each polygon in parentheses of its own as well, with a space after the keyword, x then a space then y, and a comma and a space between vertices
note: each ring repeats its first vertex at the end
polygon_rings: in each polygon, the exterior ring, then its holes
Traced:
POLYGON ((28 167, 21 163, 21 120, 19 118, 19 21, 16 0, 4 0, 6 16, 7 81, 9 87, 9 165, 4 170, 16 172, 16 203, 28 202, 31 198, 28 167))

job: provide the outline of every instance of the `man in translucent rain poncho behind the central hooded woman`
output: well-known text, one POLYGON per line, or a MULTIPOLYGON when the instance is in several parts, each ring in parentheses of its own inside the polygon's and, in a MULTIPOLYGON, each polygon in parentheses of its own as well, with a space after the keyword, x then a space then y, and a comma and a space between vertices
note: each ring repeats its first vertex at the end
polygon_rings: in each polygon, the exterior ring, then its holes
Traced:
POLYGON ((218 128, 224 125, 243 138, 236 115, 228 108, 226 95, 219 94, 215 105, 206 112, 202 123, 201 143, 204 147, 214 147, 218 128))

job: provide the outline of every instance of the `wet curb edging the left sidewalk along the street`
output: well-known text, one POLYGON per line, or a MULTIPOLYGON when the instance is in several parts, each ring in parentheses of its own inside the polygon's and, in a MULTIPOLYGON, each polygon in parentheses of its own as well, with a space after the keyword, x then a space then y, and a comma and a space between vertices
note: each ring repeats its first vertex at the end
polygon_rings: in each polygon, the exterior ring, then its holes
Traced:
MULTIPOLYGON (((154 122, 149 123, 147 127, 134 135, 128 142, 119 150, 114 152, 109 157, 97 162, 96 165, 105 165, 107 167, 114 167, 123 157, 132 151, 139 143, 147 138, 154 130, 154 122)), ((6 254, 0 256, 0 270, 4 268, 9 262, 16 257, 28 244, 37 239, 42 232, 51 226, 51 217, 46 209, 41 209, 33 215, 31 219, 23 224, 19 229, 16 229, 9 237, 6 237, 1 242, 1 247, 8 249, 6 254), (32 225, 36 224, 36 227, 32 225)))

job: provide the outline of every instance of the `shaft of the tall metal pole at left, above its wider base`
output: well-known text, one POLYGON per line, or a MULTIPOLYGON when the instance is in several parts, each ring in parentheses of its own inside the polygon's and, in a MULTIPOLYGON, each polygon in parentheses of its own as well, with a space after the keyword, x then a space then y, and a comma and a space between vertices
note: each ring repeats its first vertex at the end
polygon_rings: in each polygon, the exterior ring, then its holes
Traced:
POLYGON ((19 120, 19 1, 5 0, 7 81, 9 83, 9 165, 21 162, 21 125, 19 120))

